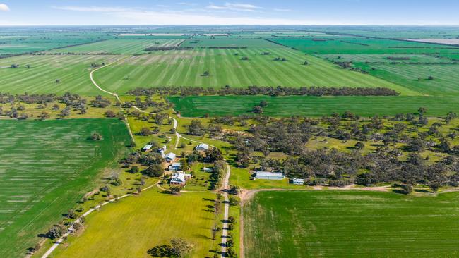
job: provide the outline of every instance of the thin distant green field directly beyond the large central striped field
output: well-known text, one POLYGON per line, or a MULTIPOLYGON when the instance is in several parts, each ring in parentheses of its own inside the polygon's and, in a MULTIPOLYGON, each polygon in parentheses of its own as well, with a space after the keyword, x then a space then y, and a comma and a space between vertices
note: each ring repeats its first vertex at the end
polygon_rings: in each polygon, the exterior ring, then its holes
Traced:
POLYGON ((282 47, 264 39, 188 39, 182 47, 282 47))

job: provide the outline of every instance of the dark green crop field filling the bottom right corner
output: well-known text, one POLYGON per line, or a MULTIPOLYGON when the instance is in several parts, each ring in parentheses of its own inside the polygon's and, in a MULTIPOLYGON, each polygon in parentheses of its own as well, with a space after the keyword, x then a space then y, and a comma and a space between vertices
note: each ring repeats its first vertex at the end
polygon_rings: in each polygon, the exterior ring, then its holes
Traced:
POLYGON ((244 208, 246 257, 456 257, 459 194, 259 192, 244 208))

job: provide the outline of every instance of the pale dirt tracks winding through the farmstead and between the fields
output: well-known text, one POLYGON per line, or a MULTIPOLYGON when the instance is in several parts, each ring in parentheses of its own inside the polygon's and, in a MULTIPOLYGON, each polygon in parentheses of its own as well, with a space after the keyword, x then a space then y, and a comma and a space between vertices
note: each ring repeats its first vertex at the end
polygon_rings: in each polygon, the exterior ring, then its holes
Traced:
MULTIPOLYGON (((126 57, 124 57, 126 58, 126 57)), ((109 92, 107 90, 104 90, 102 89, 102 87, 100 87, 99 85, 97 85, 97 82, 95 82, 94 80, 94 73, 97 71, 97 70, 100 70, 101 68, 105 68, 107 66, 112 66, 114 63, 117 63, 118 61, 124 59, 124 58, 121 58, 121 59, 118 59, 117 61, 114 61, 113 63, 109 63, 105 66, 101 66, 97 69, 94 69, 90 72, 90 80, 91 82, 93 82, 93 85, 95 87, 97 87, 97 89, 99 89, 100 91, 102 92, 105 92, 107 94, 110 94, 112 95, 113 97, 115 97, 119 102, 121 102, 121 99, 119 98, 119 95, 117 93, 114 93, 114 92, 109 92)), ((147 112, 147 111, 143 111, 142 109, 139 109, 137 106, 132 106, 134 109, 140 111, 141 113, 148 113, 148 114, 155 114, 155 113, 150 113, 150 112, 147 112)), ((121 108, 121 110, 123 110, 121 108)), ((184 139, 184 140, 188 140, 190 142, 196 142, 196 143, 203 143, 203 142, 199 142, 199 141, 196 141, 196 140, 191 140, 189 138, 186 138, 186 137, 183 137, 182 135, 180 135, 179 133, 177 133, 177 127, 179 126, 179 122, 177 121, 176 118, 174 117, 170 117, 172 118, 172 120, 174 121, 174 129, 175 129, 175 135, 177 137, 177 141, 175 142, 175 149, 177 149, 177 146, 179 145, 179 141, 180 139, 184 139)), ((133 137, 133 134, 131 132, 131 127, 129 126, 129 122, 127 121, 127 119, 125 119, 125 122, 126 122, 126 125, 128 126, 128 129, 129 129, 129 134, 131 135, 131 139, 134 141, 134 137, 133 137)), ((214 147, 213 145, 209 145, 210 147, 214 147)), ((227 241, 227 220, 228 220, 228 214, 229 214, 229 199, 228 199, 228 194, 227 194, 227 189, 228 189, 228 184, 229 184, 229 175, 231 173, 231 170, 229 168, 229 164, 227 164, 227 173, 225 175, 225 179, 223 180, 223 184, 222 184, 222 191, 223 191, 223 195, 225 197, 225 217, 224 217, 224 223, 223 223, 223 231, 222 231, 222 257, 224 257, 224 254, 226 253, 226 241, 227 241)), ((154 185, 150 185, 148 186, 147 188, 144 188, 142 189, 142 191, 144 190, 148 190, 150 188, 153 188, 154 186, 157 186, 158 188, 161 189, 161 186, 160 186, 160 183, 161 183, 161 180, 159 180, 157 183, 155 183, 154 185)), ((163 188, 164 189, 164 188, 163 188)), ((101 207, 109 204, 109 203, 112 203, 112 202, 116 202, 117 200, 119 199, 124 199, 126 197, 129 197, 131 196, 132 194, 126 194, 126 195, 123 195, 121 197, 118 197, 118 198, 114 198, 114 199, 110 199, 108 200, 107 202, 104 202, 100 205, 97 205, 96 207, 94 207, 93 209, 90 209, 88 211, 85 212, 85 214, 81 215, 78 219, 76 219, 76 222, 80 222, 83 218, 85 218, 86 216, 88 216, 89 214, 93 213, 94 211, 97 211, 98 209, 100 209, 101 207)), ((68 237, 68 235, 70 235, 71 233, 73 233, 74 231, 74 228, 73 226, 71 226, 70 228, 68 228, 68 231, 66 233, 64 233, 64 235, 61 236, 61 238, 59 238, 58 240, 56 240, 56 242, 54 242, 54 244, 49 247, 49 249, 47 250, 47 252, 45 252, 43 255, 42 255, 42 258, 47 258, 49 257, 49 255, 52 254, 52 252, 54 252, 54 250, 56 250, 57 247, 59 247, 59 245, 61 245, 62 242, 64 242, 64 239, 66 239, 68 237)))

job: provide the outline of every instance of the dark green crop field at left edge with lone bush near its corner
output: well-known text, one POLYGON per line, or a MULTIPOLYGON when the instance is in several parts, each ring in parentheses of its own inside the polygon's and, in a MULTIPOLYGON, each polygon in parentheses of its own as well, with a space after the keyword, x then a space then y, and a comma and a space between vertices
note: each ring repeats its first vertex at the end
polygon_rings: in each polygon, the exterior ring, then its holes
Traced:
POLYGON ((0 121, 0 257, 23 257, 129 143, 111 119, 0 121), (88 140, 92 132, 102 141, 88 140))

